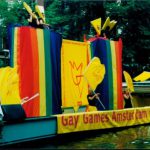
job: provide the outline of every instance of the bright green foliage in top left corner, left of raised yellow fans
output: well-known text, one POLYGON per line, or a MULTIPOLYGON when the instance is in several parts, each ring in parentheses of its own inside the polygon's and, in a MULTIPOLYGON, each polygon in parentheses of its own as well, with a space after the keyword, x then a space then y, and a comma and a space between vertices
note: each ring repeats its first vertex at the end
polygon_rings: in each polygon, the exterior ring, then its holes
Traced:
POLYGON ((7 27, 10 24, 22 24, 26 25, 27 21, 27 12, 23 9, 22 2, 14 1, 9 3, 6 0, 1 0, 0 2, 0 26, 1 26, 1 38, 4 39, 3 47, 8 48, 7 46, 7 27))

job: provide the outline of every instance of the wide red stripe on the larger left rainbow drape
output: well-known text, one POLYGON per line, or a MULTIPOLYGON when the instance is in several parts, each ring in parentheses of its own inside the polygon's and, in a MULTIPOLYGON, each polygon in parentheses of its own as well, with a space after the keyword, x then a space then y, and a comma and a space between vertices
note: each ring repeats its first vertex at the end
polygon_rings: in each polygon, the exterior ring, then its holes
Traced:
MULTIPOLYGON (((33 84, 33 56, 31 46, 31 34, 29 27, 20 27, 18 45, 18 72, 20 78, 20 96, 32 97, 34 95, 33 84)), ((27 117, 33 116, 33 101, 23 104, 27 117)))

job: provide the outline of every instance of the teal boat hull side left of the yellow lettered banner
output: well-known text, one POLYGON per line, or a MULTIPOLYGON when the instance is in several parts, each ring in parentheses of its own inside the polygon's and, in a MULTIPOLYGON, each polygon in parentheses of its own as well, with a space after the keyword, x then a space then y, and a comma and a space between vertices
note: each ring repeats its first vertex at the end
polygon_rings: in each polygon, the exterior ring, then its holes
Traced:
POLYGON ((30 118, 23 122, 6 123, 2 127, 0 146, 54 137, 56 117, 30 118))

